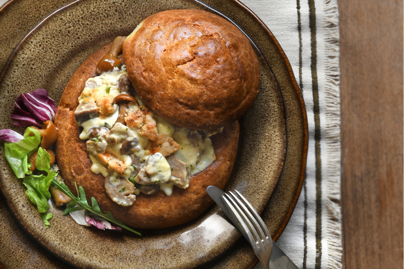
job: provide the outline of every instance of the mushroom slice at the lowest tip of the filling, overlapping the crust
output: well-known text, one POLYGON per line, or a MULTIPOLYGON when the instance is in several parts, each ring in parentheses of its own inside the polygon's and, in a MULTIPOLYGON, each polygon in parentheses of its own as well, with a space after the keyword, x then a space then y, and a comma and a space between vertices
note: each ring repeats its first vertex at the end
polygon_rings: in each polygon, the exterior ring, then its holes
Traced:
POLYGON ((104 186, 108 196, 119 205, 130 206, 136 200, 134 195, 135 186, 125 178, 114 178, 111 182, 111 176, 105 177, 104 186))

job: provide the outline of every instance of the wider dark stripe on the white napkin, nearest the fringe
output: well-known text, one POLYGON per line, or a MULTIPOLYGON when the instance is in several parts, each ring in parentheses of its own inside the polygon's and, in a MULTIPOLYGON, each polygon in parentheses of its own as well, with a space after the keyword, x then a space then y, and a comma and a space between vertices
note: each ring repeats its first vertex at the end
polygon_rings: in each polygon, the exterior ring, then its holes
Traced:
POLYGON ((310 36, 312 47, 312 82, 313 82, 313 112, 314 112, 314 139, 316 154, 316 264, 321 267, 321 153, 320 153, 320 104, 319 87, 317 80, 317 40, 316 40, 316 7, 314 0, 309 0, 310 36))

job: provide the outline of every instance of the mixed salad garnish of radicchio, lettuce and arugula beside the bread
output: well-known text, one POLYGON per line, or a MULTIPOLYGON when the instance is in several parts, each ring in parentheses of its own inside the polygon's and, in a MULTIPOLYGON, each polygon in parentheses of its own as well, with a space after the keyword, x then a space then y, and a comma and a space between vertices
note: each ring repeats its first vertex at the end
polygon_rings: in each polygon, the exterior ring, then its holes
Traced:
MULTIPOLYGON (((63 215, 77 212, 84 215, 86 224, 98 229, 121 231, 120 227, 122 227, 140 235, 139 232, 116 220, 110 211, 104 214, 94 197, 91 197, 92 206, 90 206, 81 186, 79 190, 76 186, 78 195, 75 197, 63 183, 63 179, 59 175, 59 168, 54 164, 55 153, 49 148, 52 148, 58 134, 58 130, 52 122, 55 113, 55 101, 49 97, 46 90, 38 89, 30 93, 23 93, 17 97, 10 118, 16 120, 14 125, 17 127, 27 125, 29 127, 25 130, 24 135, 10 129, 0 130, 0 139, 6 141, 4 145, 6 159, 17 178, 23 179, 22 184, 27 188, 25 194, 36 205, 45 227, 49 227, 49 220, 53 218, 53 214, 47 211, 50 208, 48 199, 54 196, 56 205, 68 204, 63 215), (51 185, 53 186, 49 191, 51 185)), ((77 218, 73 219, 77 222, 77 218)))

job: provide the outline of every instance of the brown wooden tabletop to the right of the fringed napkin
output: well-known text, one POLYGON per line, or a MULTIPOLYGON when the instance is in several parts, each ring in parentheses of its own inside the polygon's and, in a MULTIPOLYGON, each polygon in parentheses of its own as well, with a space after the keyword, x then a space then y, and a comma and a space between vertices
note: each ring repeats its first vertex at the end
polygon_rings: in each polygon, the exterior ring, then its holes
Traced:
POLYGON ((403 3, 340 0, 343 263, 403 267, 403 3))

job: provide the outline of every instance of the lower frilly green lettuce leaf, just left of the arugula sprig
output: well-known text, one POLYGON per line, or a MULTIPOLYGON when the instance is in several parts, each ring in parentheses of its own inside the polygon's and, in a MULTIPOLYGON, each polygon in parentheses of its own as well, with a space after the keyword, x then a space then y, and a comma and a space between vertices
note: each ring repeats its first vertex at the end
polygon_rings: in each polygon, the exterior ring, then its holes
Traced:
POLYGON ((45 175, 29 175, 24 178, 23 184, 27 187, 25 194, 29 200, 35 204, 39 213, 45 213, 49 209, 47 199, 51 198, 49 186, 52 180, 58 176, 52 170, 49 170, 47 176, 45 175))

